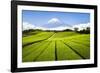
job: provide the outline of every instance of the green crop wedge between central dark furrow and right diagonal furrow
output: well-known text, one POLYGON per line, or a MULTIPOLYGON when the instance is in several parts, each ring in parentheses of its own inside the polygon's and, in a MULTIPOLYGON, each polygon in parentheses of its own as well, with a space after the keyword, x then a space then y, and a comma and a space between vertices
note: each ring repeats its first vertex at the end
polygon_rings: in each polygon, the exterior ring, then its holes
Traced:
POLYGON ((57 41, 57 56, 58 60, 77 60, 82 59, 70 47, 61 41, 57 41))

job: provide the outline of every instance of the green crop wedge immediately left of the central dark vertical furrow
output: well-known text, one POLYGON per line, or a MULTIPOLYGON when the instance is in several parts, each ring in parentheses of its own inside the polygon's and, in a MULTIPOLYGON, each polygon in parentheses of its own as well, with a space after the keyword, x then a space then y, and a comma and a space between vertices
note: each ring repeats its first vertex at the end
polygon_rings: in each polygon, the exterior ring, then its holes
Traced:
POLYGON ((37 57, 36 61, 54 61, 55 60, 55 42, 52 41, 45 48, 44 52, 37 57))

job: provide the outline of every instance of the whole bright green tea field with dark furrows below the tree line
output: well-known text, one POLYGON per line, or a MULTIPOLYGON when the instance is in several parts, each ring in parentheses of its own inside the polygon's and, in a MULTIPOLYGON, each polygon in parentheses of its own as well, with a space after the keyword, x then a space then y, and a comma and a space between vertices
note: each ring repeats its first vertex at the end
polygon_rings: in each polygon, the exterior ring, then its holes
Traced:
POLYGON ((81 60, 90 58, 90 34, 76 32, 23 34, 23 62, 81 60))

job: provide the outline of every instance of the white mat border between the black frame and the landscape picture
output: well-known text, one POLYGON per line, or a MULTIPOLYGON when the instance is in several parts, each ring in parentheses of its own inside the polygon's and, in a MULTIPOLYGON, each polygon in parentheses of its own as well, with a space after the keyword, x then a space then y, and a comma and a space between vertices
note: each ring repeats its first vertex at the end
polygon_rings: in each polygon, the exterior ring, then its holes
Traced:
POLYGON ((18 68, 25 67, 43 67, 43 66, 57 66, 57 65, 77 65, 77 64, 93 64, 94 63, 94 10, 92 9, 75 9, 75 8, 58 8, 58 7, 43 7, 43 6, 18 6, 17 12, 17 64, 18 68), (69 60, 69 61, 48 61, 48 62, 26 62, 22 63, 22 10, 41 10, 41 11, 60 11, 60 12, 82 12, 90 13, 90 59, 88 60, 69 60))

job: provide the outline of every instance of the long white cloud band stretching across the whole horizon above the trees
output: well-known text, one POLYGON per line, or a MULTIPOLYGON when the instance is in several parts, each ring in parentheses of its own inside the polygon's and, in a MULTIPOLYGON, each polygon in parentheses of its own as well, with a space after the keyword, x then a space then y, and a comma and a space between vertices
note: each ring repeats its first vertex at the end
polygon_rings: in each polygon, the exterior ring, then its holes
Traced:
POLYGON ((90 23, 86 23, 86 24, 77 24, 77 25, 73 25, 72 27, 69 26, 58 26, 55 28, 46 28, 46 27, 39 27, 39 26, 35 26, 33 24, 30 24, 28 22, 23 22, 23 30, 28 30, 28 29, 42 29, 42 30, 65 30, 65 29, 71 29, 74 30, 74 28, 78 28, 79 30, 82 29, 86 29, 87 27, 90 27, 90 23))

